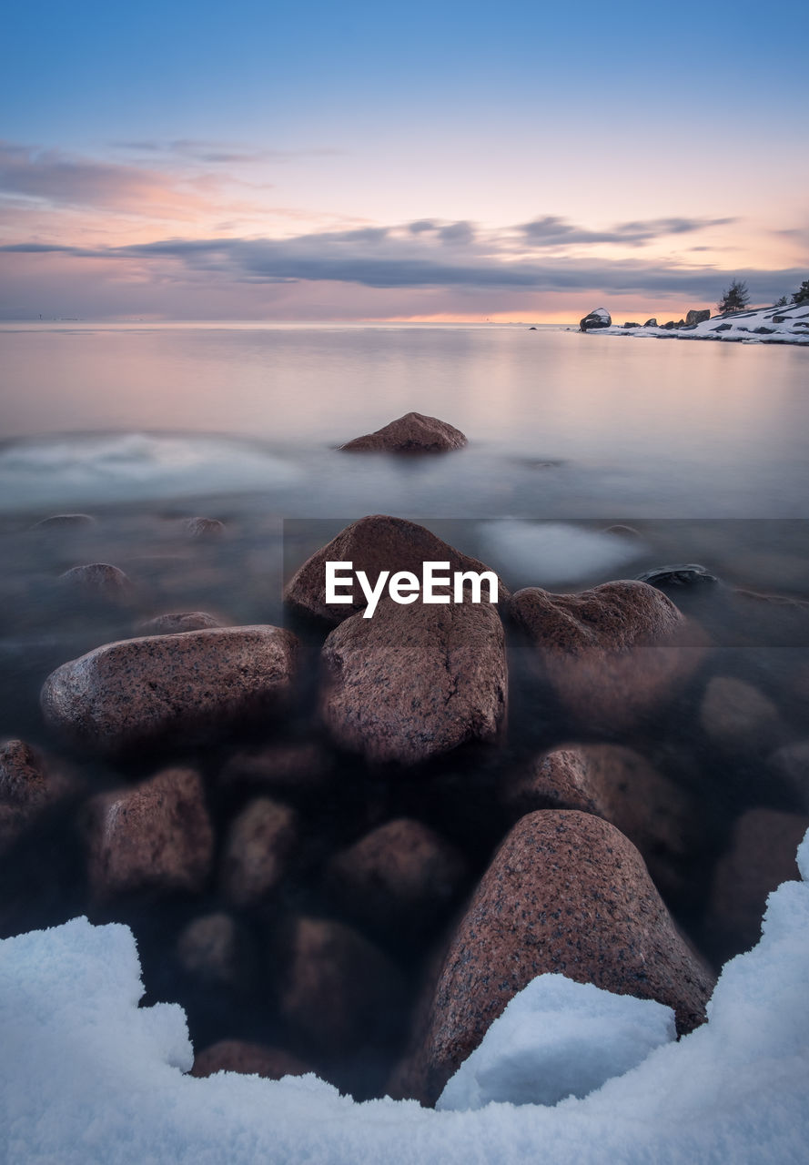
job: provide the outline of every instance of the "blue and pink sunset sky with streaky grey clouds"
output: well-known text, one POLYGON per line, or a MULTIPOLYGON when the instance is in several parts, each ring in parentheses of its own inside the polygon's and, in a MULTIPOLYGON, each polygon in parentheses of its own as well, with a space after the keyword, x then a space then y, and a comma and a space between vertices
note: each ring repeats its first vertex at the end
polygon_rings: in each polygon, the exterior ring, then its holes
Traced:
POLYGON ((732 278, 772 303, 809 276, 797 21, 16 0, 0 319, 643 323, 732 278))

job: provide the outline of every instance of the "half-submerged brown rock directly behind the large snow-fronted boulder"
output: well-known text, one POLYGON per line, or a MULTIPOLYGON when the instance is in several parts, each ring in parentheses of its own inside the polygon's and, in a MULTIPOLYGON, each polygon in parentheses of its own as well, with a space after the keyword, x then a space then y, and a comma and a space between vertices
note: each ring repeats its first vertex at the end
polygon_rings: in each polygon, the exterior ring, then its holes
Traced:
POLYGON ((638 847, 663 895, 683 888, 701 836, 694 797, 620 744, 563 744, 541 754, 506 776, 501 798, 515 817, 544 809, 603 817, 638 847))

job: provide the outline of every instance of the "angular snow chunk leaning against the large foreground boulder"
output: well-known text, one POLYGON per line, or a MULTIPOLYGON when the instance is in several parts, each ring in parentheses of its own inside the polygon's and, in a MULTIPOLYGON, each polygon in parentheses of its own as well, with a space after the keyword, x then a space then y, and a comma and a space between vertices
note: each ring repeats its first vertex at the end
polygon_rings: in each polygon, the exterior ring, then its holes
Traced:
POLYGON ((495 1019, 435 1107, 464 1111, 490 1101, 555 1104, 587 1096, 675 1038, 674 1011, 662 1003, 539 975, 495 1019))

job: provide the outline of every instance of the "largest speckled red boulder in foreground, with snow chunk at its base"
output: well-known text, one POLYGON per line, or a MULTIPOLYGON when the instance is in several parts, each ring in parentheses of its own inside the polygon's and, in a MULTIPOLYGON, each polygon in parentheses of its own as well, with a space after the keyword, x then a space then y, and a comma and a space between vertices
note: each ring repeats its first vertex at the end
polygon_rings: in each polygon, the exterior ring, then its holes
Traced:
POLYGON ((531 813, 505 838, 450 942, 419 1099, 434 1103, 509 1000, 546 972, 665 1003, 681 1032, 704 1021, 712 987, 626 838, 587 813, 531 813))

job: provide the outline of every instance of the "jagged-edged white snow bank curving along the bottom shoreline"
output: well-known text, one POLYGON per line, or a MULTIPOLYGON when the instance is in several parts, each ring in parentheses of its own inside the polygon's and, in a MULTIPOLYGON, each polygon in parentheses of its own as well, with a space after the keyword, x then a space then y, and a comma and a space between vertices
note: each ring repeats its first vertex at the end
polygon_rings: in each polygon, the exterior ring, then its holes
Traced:
MULTIPOLYGON (((809 834, 799 868, 806 878, 809 834)), ((0 1160, 804 1165, 808 994, 809 885, 787 882, 758 946, 725 966, 709 1022, 584 1099, 464 1113, 357 1104, 313 1075, 184 1074, 183 1014, 139 1009, 128 929, 73 919, 0 942, 0 1160)), ((568 1008, 560 996, 560 1026, 573 1024, 568 1008)))

